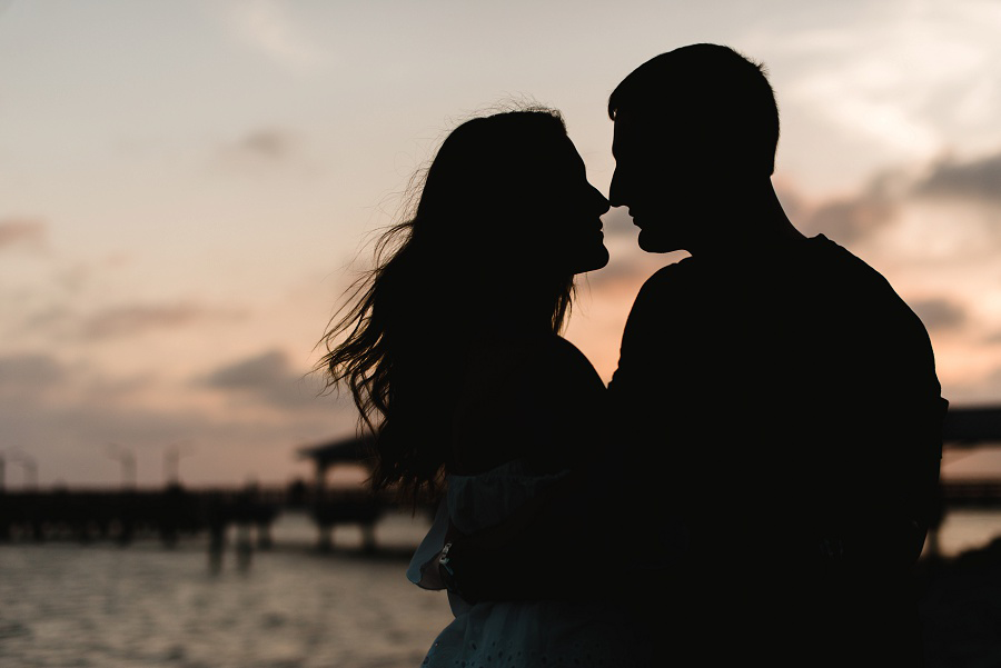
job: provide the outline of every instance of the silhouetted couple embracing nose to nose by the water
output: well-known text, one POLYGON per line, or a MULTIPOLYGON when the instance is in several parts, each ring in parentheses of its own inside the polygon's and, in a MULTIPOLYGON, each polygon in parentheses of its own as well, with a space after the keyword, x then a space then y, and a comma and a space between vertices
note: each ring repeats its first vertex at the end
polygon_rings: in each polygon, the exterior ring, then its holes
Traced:
POLYGON ((611 203, 692 257, 643 286, 607 389, 557 336, 608 202, 553 110, 456 128, 328 333, 375 486, 442 497, 408 570, 456 614, 426 665, 920 665, 924 327, 790 223, 760 66, 677 49, 608 113, 611 203))

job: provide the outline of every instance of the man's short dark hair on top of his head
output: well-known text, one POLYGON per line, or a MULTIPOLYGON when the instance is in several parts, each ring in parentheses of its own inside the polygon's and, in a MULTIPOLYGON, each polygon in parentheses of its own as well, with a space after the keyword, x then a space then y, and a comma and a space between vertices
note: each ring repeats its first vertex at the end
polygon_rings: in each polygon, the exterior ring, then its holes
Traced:
POLYGON ((751 170, 775 170, 779 108, 764 66, 730 47, 692 44, 647 60, 608 98, 608 117, 673 126, 707 152, 751 170))

